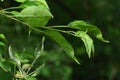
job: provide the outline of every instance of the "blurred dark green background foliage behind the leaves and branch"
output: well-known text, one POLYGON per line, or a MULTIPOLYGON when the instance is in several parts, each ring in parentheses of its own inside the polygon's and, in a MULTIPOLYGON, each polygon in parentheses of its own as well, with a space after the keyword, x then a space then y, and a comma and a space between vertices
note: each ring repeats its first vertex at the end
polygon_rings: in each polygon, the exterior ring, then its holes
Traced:
MULTIPOLYGON (((54 41, 46 38, 48 55, 39 80, 120 80, 120 0, 47 0, 47 3, 54 15, 48 25, 66 25, 70 21, 84 20, 98 26, 110 43, 93 37, 95 54, 88 58, 80 39, 63 34, 74 46, 75 55, 81 62, 78 65, 54 41)), ((0 2, 1 8, 18 5, 14 0, 0 2)), ((27 27, 3 16, 0 16, 0 33, 4 33, 16 49, 29 51, 34 50, 33 45, 43 35, 32 32, 29 38, 27 27)), ((10 80, 10 74, 7 74, 0 69, 0 79, 10 80)))

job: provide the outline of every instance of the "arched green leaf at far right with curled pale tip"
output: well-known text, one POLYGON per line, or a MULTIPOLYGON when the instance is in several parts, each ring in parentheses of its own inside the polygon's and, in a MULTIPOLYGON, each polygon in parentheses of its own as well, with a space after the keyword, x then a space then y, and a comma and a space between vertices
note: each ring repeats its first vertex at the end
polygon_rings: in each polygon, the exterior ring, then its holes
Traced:
POLYGON ((68 24, 68 27, 78 29, 81 31, 87 31, 89 34, 94 35, 97 39, 103 42, 109 42, 102 37, 102 32, 94 25, 88 24, 82 20, 76 20, 68 24))

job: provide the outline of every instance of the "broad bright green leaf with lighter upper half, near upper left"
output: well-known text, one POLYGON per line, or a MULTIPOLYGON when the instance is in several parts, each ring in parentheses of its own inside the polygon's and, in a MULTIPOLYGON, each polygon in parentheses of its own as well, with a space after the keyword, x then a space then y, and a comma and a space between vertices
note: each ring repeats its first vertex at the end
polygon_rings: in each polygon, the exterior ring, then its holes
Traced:
POLYGON ((30 26, 40 27, 48 23, 52 14, 44 5, 40 5, 27 7, 15 16, 30 26))

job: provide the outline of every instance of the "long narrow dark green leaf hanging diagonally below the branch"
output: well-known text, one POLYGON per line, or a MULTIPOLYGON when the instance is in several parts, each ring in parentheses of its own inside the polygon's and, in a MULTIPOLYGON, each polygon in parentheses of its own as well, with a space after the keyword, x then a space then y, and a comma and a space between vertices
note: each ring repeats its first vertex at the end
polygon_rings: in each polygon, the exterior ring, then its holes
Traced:
POLYGON ((62 47, 62 49, 71 57, 73 58, 78 64, 80 64, 78 62, 78 60, 76 59, 75 55, 74 55, 74 49, 71 46, 71 44, 57 31, 53 31, 53 30, 46 30, 45 34, 47 34, 48 36, 50 36, 54 41, 56 41, 60 47, 62 47))

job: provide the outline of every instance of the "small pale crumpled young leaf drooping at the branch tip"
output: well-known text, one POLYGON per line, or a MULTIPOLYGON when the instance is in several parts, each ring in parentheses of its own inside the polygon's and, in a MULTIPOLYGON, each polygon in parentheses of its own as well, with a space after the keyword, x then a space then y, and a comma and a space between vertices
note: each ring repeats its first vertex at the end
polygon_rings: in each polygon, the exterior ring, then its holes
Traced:
POLYGON ((75 36, 81 38, 81 40, 84 42, 85 47, 86 47, 86 51, 88 53, 89 58, 91 57, 91 52, 94 53, 94 44, 93 44, 93 40, 90 38, 90 36, 88 34, 86 34, 86 32, 84 31, 77 31, 75 33, 75 36))

